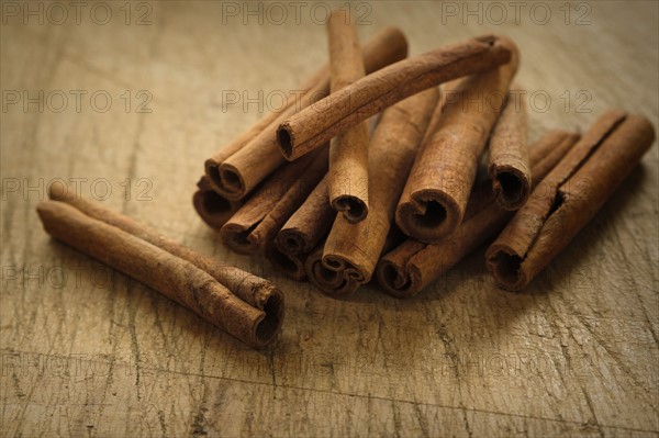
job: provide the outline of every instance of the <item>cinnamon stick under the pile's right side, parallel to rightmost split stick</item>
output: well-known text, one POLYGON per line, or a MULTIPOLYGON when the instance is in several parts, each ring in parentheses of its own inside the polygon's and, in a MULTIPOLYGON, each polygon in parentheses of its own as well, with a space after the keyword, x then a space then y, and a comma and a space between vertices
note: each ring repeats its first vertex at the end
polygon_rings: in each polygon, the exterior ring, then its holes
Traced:
MULTIPOLYGON (((562 131, 543 136, 530 148, 534 183, 546 176, 578 139, 578 134, 562 131)), ((446 240, 427 245, 407 238, 380 259, 376 273, 384 292, 396 297, 416 295, 503 228, 513 212, 503 210, 494 201, 490 182, 484 181, 473 192, 467 218, 446 240), (476 192, 479 194, 474 195, 476 192)))

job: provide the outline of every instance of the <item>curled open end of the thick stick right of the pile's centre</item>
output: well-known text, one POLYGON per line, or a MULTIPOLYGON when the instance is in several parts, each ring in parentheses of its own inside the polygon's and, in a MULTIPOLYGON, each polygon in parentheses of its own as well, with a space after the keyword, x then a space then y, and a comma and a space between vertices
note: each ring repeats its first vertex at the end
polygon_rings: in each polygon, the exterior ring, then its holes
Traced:
POLYGON ((412 202, 399 207, 398 224, 406 235, 425 244, 435 244, 460 225, 463 214, 446 193, 421 190, 412 195, 412 202))

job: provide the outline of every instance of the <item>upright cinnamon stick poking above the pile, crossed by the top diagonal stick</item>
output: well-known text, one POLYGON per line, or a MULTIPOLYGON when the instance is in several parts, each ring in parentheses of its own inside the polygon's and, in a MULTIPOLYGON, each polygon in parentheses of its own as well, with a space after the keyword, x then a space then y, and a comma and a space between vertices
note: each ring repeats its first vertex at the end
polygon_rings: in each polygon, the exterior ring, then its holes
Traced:
MULTIPOLYGON (((335 10, 327 20, 331 91, 350 86, 365 75, 357 29, 350 14, 335 10)), ((349 222, 368 214, 368 133, 364 121, 332 138, 330 146, 330 204, 349 222)))

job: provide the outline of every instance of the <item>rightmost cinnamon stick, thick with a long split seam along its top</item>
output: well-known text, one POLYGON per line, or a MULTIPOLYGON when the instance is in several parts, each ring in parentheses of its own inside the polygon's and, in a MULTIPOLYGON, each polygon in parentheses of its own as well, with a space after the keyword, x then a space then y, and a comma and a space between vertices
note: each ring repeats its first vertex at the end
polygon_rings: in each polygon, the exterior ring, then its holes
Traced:
POLYGON ((647 119, 608 111, 534 190, 485 252, 504 289, 526 287, 594 216, 655 141, 647 119))

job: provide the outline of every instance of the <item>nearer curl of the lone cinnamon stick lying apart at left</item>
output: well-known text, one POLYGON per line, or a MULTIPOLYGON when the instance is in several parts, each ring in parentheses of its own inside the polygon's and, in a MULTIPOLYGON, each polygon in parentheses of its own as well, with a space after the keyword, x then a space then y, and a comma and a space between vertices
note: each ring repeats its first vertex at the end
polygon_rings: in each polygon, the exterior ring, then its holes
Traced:
POLYGON ((260 310, 190 260, 93 218, 72 204, 42 201, 37 212, 45 231, 57 240, 155 289, 242 341, 260 348, 275 339, 283 316, 283 296, 276 288, 260 310))

